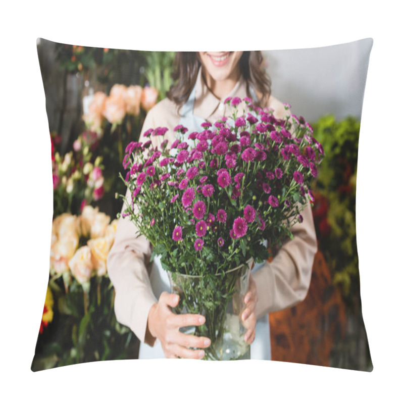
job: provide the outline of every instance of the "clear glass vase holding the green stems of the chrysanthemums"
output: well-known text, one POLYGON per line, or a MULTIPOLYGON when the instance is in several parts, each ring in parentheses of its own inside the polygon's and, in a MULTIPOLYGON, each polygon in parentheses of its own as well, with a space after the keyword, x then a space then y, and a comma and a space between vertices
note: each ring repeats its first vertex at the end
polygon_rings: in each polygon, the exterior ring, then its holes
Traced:
POLYGON ((169 272, 172 293, 180 296, 176 314, 201 314, 205 324, 181 328, 186 334, 208 337, 205 360, 231 361, 250 359, 250 346, 244 341, 246 329, 241 320, 244 296, 252 259, 222 274, 204 276, 169 272))

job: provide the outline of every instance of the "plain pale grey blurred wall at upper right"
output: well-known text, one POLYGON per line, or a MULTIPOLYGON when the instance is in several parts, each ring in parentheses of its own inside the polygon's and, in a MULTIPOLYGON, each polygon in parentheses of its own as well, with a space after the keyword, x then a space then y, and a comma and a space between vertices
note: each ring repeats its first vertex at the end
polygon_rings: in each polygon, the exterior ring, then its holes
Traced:
POLYGON ((367 38, 319 48, 265 51, 272 94, 311 122, 325 114, 360 119, 372 44, 367 38))

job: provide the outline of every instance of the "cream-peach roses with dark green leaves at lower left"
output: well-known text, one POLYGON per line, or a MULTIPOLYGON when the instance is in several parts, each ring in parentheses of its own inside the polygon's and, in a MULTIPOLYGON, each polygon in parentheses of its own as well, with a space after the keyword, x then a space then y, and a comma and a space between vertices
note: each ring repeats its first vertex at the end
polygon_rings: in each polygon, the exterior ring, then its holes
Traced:
POLYGON ((115 318, 106 266, 117 222, 89 205, 54 219, 33 370, 135 357, 133 333, 115 318))

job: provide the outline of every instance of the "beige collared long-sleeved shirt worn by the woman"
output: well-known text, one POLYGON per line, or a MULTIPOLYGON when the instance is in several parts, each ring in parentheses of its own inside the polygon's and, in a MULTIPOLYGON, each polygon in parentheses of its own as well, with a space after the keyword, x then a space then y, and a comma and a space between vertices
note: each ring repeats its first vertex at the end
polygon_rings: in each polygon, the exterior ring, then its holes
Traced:
MULTIPOLYGON (((241 78, 228 95, 240 98, 247 96, 245 81, 241 78)), ((223 103, 225 98, 219 100, 209 91, 199 69, 194 115, 210 122, 224 115, 230 116, 229 107, 223 103)), ((277 118, 284 116, 283 104, 272 96, 269 107, 274 109, 277 118)), ((164 137, 152 137, 151 140, 154 145, 158 145, 168 139, 170 146, 175 140, 172 129, 178 125, 179 120, 177 106, 166 98, 148 112, 141 134, 149 128, 167 127, 169 130, 164 137)), ((126 196, 130 200, 128 193, 126 196)), ((292 227, 293 240, 282 246, 271 263, 266 262, 253 274, 258 290, 257 318, 293 306, 306 297, 317 240, 310 206, 302 211, 302 216, 303 222, 292 227)), ((128 326, 140 341, 153 345, 154 341, 145 340, 147 317, 159 296, 154 295, 149 280, 150 242, 144 236, 136 238, 135 230, 128 218, 119 219, 115 241, 107 259, 107 270, 115 287, 117 320, 128 326)))

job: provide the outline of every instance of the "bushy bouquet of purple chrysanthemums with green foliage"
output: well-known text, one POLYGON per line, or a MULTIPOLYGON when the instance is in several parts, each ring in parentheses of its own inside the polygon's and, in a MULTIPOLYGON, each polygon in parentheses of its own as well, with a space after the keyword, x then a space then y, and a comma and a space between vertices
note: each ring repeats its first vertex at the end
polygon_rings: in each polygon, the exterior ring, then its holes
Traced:
POLYGON ((291 226, 314 199, 309 184, 323 156, 311 126, 289 105, 278 120, 249 98, 226 103, 232 118, 187 135, 179 125, 171 145, 163 140, 167 128, 149 129, 144 143, 128 144, 123 161, 131 195, 123 215, 153 244, 165 270, 209 279, 217 293, 207 296, 205 282, 199 301, 217 304, 231 288, 221 277, 226 271, 251 257, 268 259, 268 247, 292 237, 291 226))

